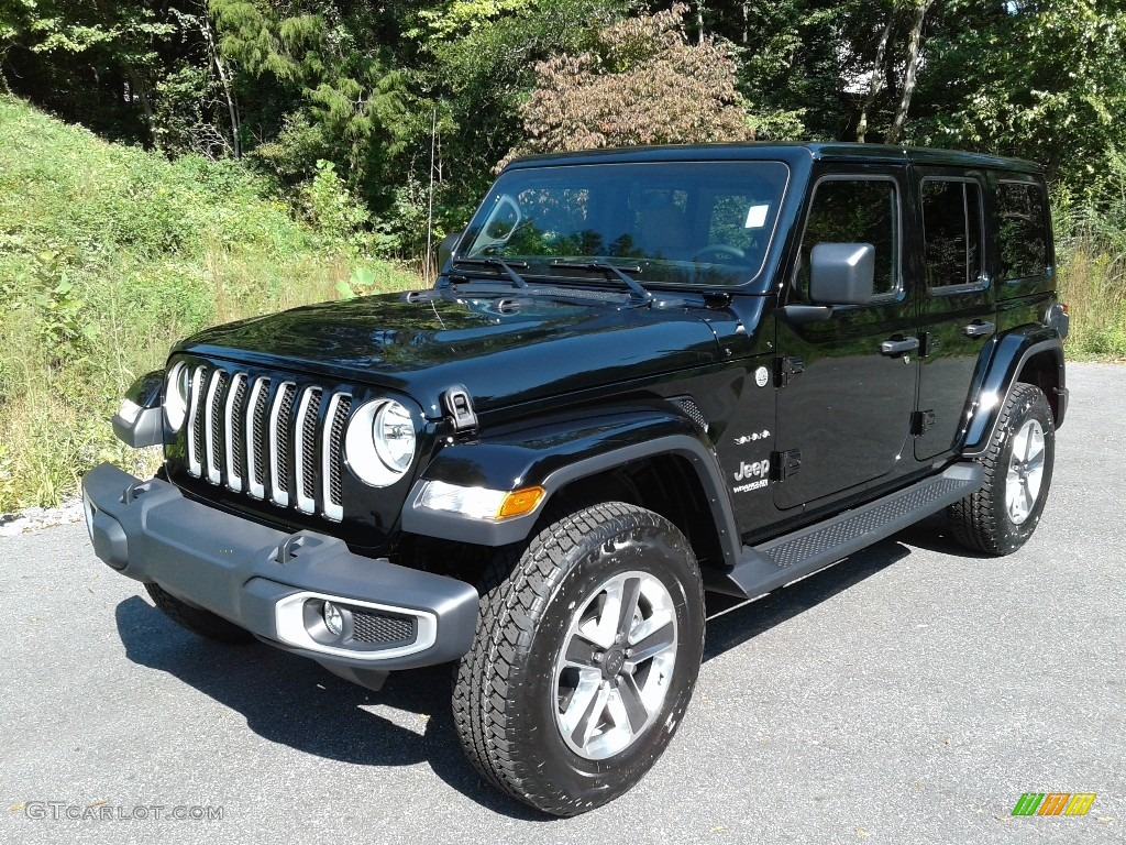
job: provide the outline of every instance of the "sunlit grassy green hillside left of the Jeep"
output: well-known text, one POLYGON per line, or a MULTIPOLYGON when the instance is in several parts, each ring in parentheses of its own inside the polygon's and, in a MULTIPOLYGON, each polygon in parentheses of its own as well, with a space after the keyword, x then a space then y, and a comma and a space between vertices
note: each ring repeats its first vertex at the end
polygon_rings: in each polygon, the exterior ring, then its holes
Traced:
POLYGON ((421 283, 296 222, 239 162, 168 161, 0 96, 0 513, 138 460, 107 420, 177 338, 349 279, 421 283))

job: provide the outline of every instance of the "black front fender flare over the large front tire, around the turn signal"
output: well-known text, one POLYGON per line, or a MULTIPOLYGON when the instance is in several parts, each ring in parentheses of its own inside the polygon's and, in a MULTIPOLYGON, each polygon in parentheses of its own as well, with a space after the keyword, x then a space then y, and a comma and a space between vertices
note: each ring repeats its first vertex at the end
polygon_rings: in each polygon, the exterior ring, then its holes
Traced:
POLYGON ((411 534, 500 546, 528 536, 552 497, 565 486, 632 461, 676 455, 688 462, 712 512, 725 562, 739 559, 740 535, 715 450, 686 417, 637 409, 609 415, 537 421, 477 443, 444 447, 415 481, 401 528, 411 534), (546 496, 535 510, 504 521, 480 519, 418 506, 428 481, 517 490, 539 486, 546 496))

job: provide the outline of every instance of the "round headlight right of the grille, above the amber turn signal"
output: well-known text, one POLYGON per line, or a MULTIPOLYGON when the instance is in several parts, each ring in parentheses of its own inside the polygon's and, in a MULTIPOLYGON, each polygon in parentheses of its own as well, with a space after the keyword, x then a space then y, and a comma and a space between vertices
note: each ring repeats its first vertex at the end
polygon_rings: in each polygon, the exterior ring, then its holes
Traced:
POLYGON ((387 487, 401 479, 414 460, 414 421, 393 399, 360 406, 345 434, 345 456, 361 481, 387 487))

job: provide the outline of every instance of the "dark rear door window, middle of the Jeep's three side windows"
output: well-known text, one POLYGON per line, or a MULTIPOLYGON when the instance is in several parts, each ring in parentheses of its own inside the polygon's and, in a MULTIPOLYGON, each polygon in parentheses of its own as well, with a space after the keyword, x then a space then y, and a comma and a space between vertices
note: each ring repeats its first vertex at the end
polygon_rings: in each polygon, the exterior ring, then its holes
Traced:
POLYGON ((980 284, 983 221, 977 183, 924 180, 922 217, 927 285, 941 290, 980 284))

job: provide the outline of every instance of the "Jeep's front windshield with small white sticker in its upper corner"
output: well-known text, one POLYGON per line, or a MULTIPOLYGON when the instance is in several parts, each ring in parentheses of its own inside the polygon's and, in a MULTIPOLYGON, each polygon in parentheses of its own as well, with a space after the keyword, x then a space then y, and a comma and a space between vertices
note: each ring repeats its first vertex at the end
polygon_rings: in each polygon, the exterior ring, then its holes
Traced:
POLYGON ((458 257, 524 261, 526 278, 605 263, 643 284, 741 285, 762 268, 788 174, 780 161, 509 170, 458 257))

